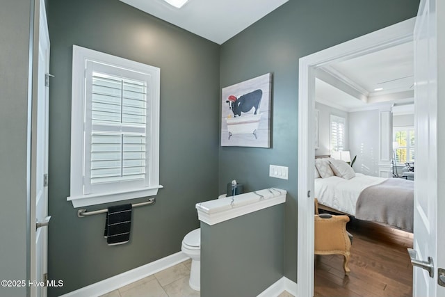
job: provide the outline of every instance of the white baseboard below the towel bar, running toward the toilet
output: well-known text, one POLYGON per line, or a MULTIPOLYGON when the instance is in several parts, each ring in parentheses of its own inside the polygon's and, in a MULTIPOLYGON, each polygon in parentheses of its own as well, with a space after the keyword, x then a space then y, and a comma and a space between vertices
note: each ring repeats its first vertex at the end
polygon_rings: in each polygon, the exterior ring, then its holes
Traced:
POLYGON ((188 259, 188 257, 184 252, 177 252, 176 254, 145 264, 144 266, 131 269, 130 271, 120 273, 111 278, 107 278, 106 280, 77 289, 76 291, 62 295, 62 297, 101 296, 127 284, 131 284, 131 282, 146 278, 148 275, 162 271, 165 268, 175 266, 176 264, 184 262, 186 259, 188 259))

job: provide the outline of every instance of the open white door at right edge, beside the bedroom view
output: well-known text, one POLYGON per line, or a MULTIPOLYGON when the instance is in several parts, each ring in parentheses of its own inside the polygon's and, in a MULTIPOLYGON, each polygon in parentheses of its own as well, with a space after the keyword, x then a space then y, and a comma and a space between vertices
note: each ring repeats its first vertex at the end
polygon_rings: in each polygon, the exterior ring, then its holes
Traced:
MULTIPOLYGON (((438 284, 438 269, 444 262, 444 210, 445 187, 445 130, 443 114, 444 83, 438 70, 444 66, 439 56, 445 51, 438 37, 445 33, 444 22, 439 26, 437 15, 444 17, 444 2, 421 0, 414 29, 414 81, 415 81, 415 180, 414 180, 414 252, 411 257, 417 265, 413 273, 413 296, 445 296, 445 288, 438 284), (437 6, 442 5, 442 10, 437 6), (439 32, 441 30, 442 32, 439 32), (439 48, 439 47, 442 47, 439 48), (439 79, 439 81, 438 81, 439 79), (440 86, 442 85, 442 86, 440 86), (442 93, 439 88, 442 88, 442 93), (442 101, 442 102, 441 102, 442 101), (442 115, 442 117, 438 117, 442 115), (441 125, 442 124, 442 125, 441 125), (441 127, 442 131, 438 128, 441 127), (441 201, 442 198, 442 201, 441 201), (417 266, 430 266, 430 272, 417 266)), ((442 38, 442 37, 441 37, 442 38)), ((443 70, 440 70, 443 71, 443 70)), ((442 72, 443 74, 444 72, 442 72)), ((414 263, 413 263, 414 265, 414 263)), ((445 281, 445 279, 444 279, 445 281)))

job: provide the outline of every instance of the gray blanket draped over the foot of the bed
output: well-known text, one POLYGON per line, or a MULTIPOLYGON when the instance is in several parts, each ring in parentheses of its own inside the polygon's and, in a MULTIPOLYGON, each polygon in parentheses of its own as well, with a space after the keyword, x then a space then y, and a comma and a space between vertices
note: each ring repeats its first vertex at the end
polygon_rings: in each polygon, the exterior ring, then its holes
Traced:
POLYGON ((414 220, 414 182, 390 178, 360 193, 355 218, 385 223, 412 232, 414 220))

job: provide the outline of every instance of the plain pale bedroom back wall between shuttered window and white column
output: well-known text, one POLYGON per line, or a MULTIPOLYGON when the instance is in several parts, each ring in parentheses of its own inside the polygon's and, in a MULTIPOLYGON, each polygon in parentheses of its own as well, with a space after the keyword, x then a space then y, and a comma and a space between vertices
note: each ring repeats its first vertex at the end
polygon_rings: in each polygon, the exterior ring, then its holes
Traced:
POLYGON ((353 166, 355 172, 379 176, 379 110, 349 113, 348 126, 350 156, 357 156, 353 166))

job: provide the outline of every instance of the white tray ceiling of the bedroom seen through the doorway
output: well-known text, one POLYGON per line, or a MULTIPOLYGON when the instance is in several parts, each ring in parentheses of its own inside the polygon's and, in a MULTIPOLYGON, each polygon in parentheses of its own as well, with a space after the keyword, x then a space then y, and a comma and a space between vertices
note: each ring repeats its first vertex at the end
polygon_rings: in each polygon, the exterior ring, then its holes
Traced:
POLYGON ((414 47, 407 42, 331 63, 318 70, 317 77, 316 101, 345 111, 411 103, 414 102, 414 47))

